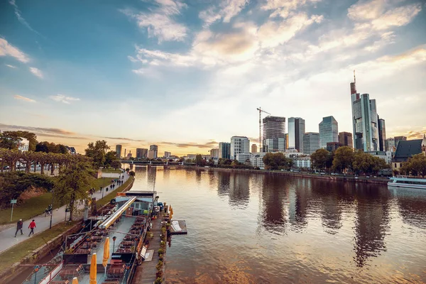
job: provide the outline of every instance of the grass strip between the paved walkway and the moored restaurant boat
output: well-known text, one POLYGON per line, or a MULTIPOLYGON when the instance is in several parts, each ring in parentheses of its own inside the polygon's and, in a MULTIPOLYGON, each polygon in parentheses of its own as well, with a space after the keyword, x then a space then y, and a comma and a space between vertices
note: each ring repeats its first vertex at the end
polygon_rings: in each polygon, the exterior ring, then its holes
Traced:
POLYGON ((0 253, 0 272, 3 272, 7 268, 11 267, 13 263, 21 261, 32 251, 38 249, 40 246, 43 246, 43 244, 62 234, 64 231, 70 229, 74 225, 75 223, 67 224, 62 222, 53 226, 50 230, 42 231, 39 234, 28 238, 26 241, 19 243, 18 246, 13 246, 13 248, 9 249, 8 251, 0 253))

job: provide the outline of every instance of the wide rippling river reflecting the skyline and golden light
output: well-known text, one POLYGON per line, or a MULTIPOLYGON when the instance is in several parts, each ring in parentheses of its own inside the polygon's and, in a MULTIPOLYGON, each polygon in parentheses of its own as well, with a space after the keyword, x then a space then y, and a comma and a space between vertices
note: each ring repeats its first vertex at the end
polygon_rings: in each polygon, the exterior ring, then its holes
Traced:
POLYGON ((134 167, 184 219, 168 283, 424 283, 426 191, 134 167))

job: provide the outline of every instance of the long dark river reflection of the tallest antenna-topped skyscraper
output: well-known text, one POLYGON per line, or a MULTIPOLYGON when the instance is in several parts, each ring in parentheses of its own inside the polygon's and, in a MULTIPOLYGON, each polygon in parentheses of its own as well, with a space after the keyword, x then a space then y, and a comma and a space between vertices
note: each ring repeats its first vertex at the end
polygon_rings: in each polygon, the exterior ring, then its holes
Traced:
POLYGON ((389 222, 388 191, 364 189, 356 196, 355 252, 356 266, 363 267, 371 256, 386 251, 385 236, 389 222), (360 196, 362 195, 362 196, 360 196))

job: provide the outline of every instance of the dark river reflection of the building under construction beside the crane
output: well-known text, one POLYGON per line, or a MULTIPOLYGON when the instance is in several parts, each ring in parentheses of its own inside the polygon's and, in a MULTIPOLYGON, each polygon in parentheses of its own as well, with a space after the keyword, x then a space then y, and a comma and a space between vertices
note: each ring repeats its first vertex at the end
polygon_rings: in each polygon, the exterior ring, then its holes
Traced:
POLYGON ((288 183, 288 180, 283 182, 280 177, 268 176, 262 187, 263 211, 259 211, 259 214, 265 229, 272 233, 285 231, 284 202, 288 195, 288 183))

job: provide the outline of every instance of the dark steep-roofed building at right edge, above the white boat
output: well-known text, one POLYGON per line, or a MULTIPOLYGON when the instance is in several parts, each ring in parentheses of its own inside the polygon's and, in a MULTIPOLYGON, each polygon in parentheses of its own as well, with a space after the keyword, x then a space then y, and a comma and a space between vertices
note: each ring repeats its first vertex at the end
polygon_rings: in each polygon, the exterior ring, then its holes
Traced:
POLYGON ((402 163, 406 162, 408 158, 423 153, 426 155, 426 136, 423 135, 422 139, 415 140, 400 140, 396 147, 395 156, 392 159, 392 170, 400 170, 402 163))

